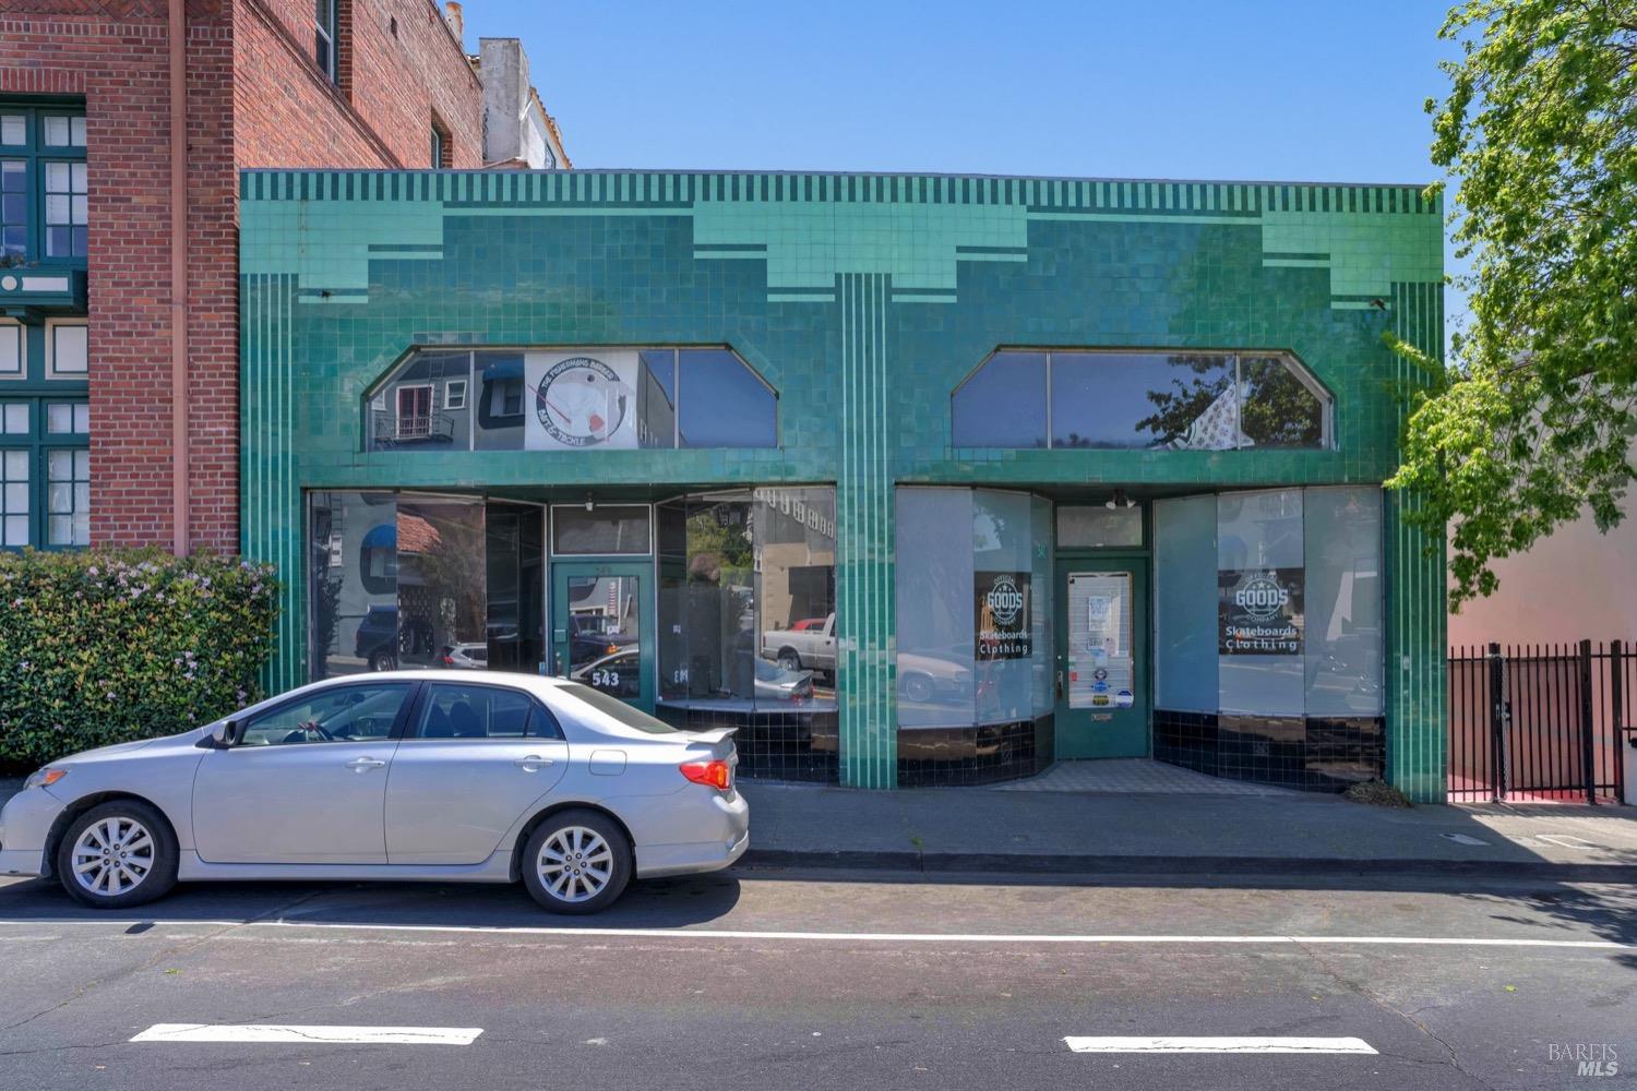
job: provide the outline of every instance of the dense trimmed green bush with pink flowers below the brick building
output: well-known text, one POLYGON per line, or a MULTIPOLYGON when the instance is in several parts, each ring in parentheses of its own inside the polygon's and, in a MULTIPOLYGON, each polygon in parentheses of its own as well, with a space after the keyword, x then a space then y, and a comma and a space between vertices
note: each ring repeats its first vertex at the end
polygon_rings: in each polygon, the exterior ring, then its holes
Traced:
POLYGON ((234 558, 0 553, 0 769, 257 700, 277 602, 272 566, 234 558))

